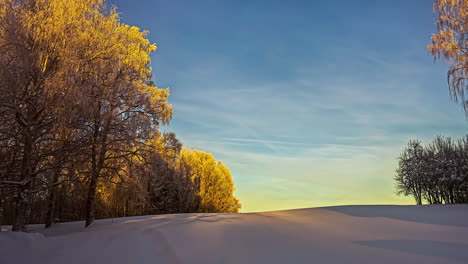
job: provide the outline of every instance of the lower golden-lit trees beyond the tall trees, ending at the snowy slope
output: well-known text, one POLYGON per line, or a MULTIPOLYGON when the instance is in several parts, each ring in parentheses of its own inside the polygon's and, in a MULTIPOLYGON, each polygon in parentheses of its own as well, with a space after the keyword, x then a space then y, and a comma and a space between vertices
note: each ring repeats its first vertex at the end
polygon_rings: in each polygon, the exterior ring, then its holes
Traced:
POLYGON ((99 216, 239 212, 231 173, 213 155, 181 150, 172 133, 154 135, 147 145, 147 160, 126 167, 125 181, 114 176, 98 184, 99 216))

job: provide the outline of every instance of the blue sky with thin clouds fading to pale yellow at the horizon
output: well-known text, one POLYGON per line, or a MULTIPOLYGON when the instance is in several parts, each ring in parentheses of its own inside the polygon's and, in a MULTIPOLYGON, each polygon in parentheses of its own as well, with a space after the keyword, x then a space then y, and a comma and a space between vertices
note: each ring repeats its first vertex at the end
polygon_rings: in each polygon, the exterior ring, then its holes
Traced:
POLYGON ((432 1, 110 2, 158 45, 166 130, 231 169, 243 212, 412 203, 392 179, 406 142, 466 133, 425 50, 432 1))

